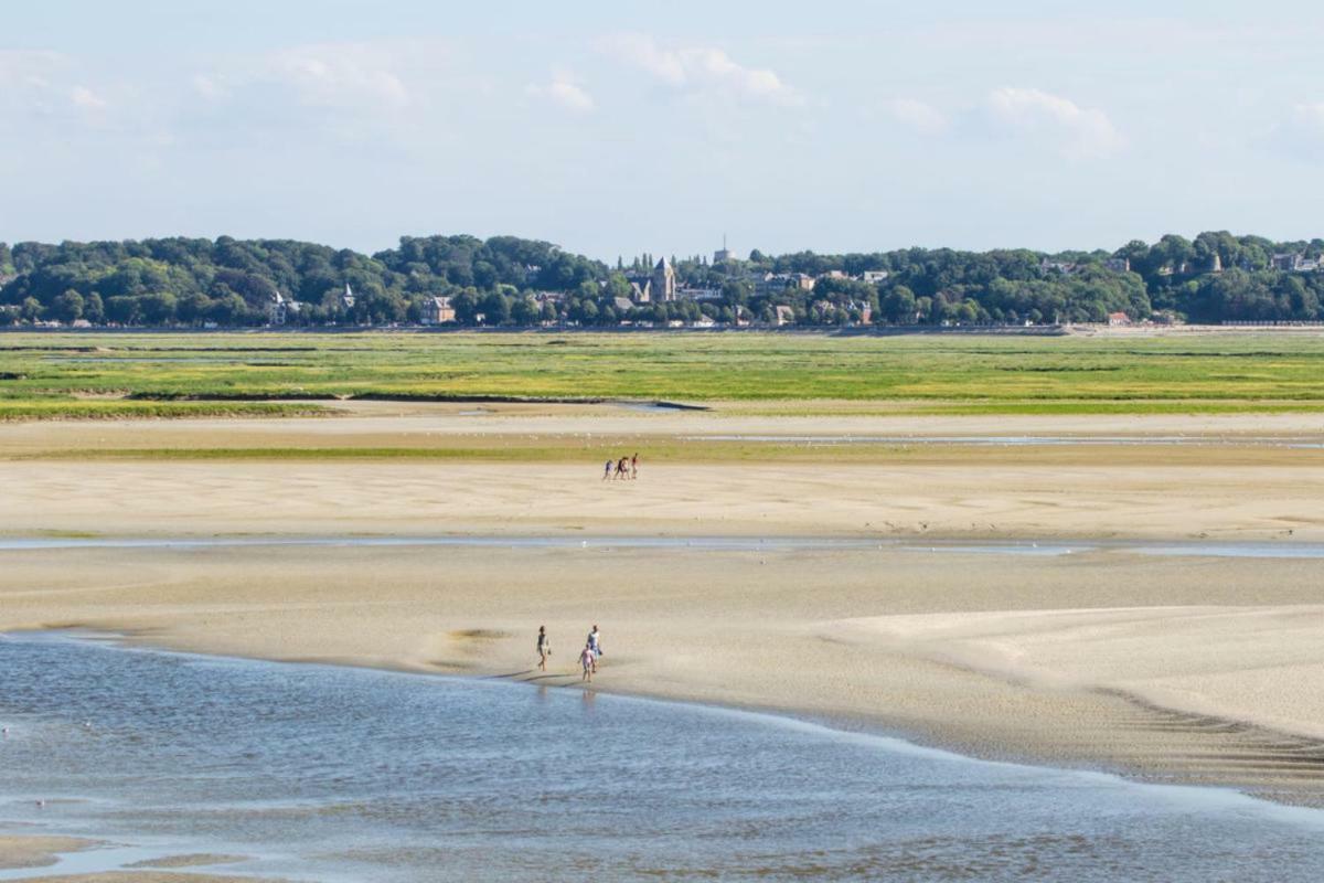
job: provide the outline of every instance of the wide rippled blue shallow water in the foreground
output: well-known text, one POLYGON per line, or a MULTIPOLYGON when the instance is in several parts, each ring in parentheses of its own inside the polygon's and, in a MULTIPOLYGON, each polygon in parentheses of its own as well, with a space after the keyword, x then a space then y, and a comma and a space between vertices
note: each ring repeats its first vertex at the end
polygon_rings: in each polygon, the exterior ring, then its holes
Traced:
POLYGON ((1324 813, 767 715, 61 635, 0 639, 0 830, 120 845, 68 870, 230 853, 253 859, 228 872, 327 880, 1324 878, 1324 813))

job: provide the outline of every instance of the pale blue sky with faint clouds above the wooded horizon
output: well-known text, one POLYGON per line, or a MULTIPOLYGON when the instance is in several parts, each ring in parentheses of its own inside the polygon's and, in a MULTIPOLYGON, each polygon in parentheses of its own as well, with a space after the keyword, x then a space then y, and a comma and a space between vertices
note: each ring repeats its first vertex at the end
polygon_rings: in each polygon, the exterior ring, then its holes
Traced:
POLYGON ((1305 1, 0 0, 0 241, 1324 236, 1305 1))

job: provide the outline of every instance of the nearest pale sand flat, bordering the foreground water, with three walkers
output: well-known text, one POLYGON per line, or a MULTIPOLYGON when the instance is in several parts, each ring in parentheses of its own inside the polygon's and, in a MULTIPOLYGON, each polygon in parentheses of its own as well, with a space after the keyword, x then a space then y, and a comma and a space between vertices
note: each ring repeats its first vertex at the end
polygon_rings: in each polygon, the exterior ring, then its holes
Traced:
POLYGON ((7 553, 0 627, 573 686, 571 649, 596 621, 597 690, 1320 802, 1320 568, 1125 552, 44 549, 7 553), (565 655, 540 675, 544 624, 565 655))

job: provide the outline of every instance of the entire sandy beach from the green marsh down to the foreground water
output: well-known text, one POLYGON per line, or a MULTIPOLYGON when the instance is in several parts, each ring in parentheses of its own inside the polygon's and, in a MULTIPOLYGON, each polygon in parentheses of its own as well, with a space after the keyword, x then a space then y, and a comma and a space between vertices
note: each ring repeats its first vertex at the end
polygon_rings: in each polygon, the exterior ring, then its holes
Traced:
MULTIPOLYGON (((601 433, 597 418, 221 421, 207 426, 207 440, 266 434, 316 445, 348 433, 352 443, 377 446, 376 434, 428 438, 458 424, 499 445, 510 432, 531 432, 530 421, 545 432, 539 420, 564 433, 601 433)), ((688 414, 602 420, 632 421, 641 436, 695 432, 688 414)), ((846 429, 861 432, 870 420, 846 429)), ((597 622, 606 655, 594 690, 777 710, 985 757, 1324 804, 1324 700, 1315 688, 1324 675, 1324 560, 1214 557, 1198 548, 1158 556, 1127 545, 1324 540, 1324 459, 1227 441, 1222 436, 1249 433, 1250 424, 1221 418, 1210 429, 1210 420, 1143 426, 1205 426, 1192 449, 1200 455, 1176 465, 1169 449, 1140 449, 1145 462, 1128 459, 1136 447, 1106 442, 1045 449, 1038 465, 1025 461, 1034 450, 1017 449, 1008 461, 1001 449, 933 446, 929 459, 837 469, 653 462, 645 447, 639 481, 616 483, 601 482, 596 463, 73 459, 58 449, 91 436, 124 447, 187 446, 200 443, 201 429, 3 426, 0 534, 75 547, 0 551, 0 630, 97 629, 200 653, 577 688, 577 642, 597 622), (113 541, 466 535, 510 544, 113 541), (678 541, 522 544, 528 536, 678 541), (715 536, 879 543, 685 545, 715 536), (79 537, 105 545, 78 548, 79 537), (941 541, 960 537, 1082 547, 1010 555, 941 541), (1091 548, 1090 539, 1112 544, 1091 548), (543 624, 556 650, 545 675, 534 665, 543 624)), ((1315 429, 1304 417, 1275 420, 1253 422, 1258 434, 1315 429)), ((1075 421, 1071 432, 1121 429, 1102 421, 1075 421)), ((965 428, 1066 432, 1005 420, 965 428)), ((813 429, 846 430, 830 421, 813 429)), ((7 846, 0 863, 32 860, 21 858, 32 850, 17 849, 7 846)))

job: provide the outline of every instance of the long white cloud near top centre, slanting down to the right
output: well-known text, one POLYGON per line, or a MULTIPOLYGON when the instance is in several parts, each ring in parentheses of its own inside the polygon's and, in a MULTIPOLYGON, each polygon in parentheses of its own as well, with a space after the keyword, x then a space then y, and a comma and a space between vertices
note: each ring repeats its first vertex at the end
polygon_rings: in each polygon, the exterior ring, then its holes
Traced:
POLYGON ((747 68, 716 46, 663 49, 646 34, 604 37, 598 46, 613 58, 662 83, 700 95, 777 105, 801 105, 804 97, 767 68, 747 68))

